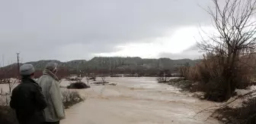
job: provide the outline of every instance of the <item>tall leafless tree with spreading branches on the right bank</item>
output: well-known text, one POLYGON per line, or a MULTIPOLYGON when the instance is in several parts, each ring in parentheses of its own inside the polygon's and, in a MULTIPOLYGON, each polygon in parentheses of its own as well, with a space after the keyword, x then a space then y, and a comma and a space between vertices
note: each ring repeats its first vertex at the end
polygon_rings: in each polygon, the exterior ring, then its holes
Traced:
POLYGON ((224 6, 218 0, 213 0, 213 3, 215 8, 209 7, 206 11, 217 33, 208 35, 209 40, 202 37, 203 41, 198 42, 198 46, 219 58, 226 99, 229 99, 237 85, 234 79, 238 76, 238 62, 241 57, 255 53, 256 22, 252 16, 256 12, 256 1, 226 0, 224 6))

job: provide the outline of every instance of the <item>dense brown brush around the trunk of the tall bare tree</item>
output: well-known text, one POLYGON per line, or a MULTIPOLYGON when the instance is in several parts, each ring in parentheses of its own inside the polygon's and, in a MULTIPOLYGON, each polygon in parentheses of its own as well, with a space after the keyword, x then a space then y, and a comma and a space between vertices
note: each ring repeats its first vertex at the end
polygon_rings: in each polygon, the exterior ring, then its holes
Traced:
POLYGON ((229 66, 222 63, 223 59, 226 58, 211 54, 211 56, 204 56, 196 66, 184 66, 180 71, 185 79, 200 82, 198 88, 206 93, 205 98, 208 100, 226 101, 234 93, 235 88, 246 88, 250 85, 251 76, 254 73, 252 69, 254 62, 245 64, 247 58, 241 57, 242 61, 236 62, 234 70, 229 72, 229 66), (228 95, 230 93, 231 95, 228 95))

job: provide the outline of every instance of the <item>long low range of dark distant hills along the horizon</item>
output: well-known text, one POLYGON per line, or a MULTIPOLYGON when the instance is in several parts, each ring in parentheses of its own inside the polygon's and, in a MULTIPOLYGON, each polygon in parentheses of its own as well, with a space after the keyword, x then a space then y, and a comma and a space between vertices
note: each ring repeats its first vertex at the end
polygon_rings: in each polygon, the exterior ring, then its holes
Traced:
MULTIPOLYGON (((91 60, 72 60, 61 62, 59 60, 39 60, 27 62, 33 64, 36 70, 43 70, 49 62, 55 62, 59 67, 69 70, 175 70, 184 64, 194 65, 200 60, 171 60, 170 58, 143 59, 141 57, 94 57, 91 60)), ((2 69, 17 67, 12 64, 2 69)))

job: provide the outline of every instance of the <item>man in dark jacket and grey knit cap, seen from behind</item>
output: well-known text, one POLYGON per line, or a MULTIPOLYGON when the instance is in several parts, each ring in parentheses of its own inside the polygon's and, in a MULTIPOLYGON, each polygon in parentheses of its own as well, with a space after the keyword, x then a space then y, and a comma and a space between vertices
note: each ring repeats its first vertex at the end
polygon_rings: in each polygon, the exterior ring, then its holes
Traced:
POLYGON ((34 81, 34 67, 24 64, 20 67, 21 84, 12 91, 10 106, 16 111, 20 124, 43 124, 46 100, 42 88, 34 81))

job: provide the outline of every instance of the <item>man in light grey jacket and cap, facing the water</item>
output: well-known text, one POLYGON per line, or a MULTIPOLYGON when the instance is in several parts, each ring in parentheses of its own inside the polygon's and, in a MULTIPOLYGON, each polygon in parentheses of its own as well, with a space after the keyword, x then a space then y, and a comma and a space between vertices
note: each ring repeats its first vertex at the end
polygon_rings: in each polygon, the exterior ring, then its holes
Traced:
POLYGON ((46 68, 43 70, 43 76, 37 80, 38 84, 42 87, 43 95, 47 102, 47 107, 44 109, 46 124, 59 124, 60 120, 65 119, 59 79, 56 76, 56 72, 56 63, 46 64, 46 68))

